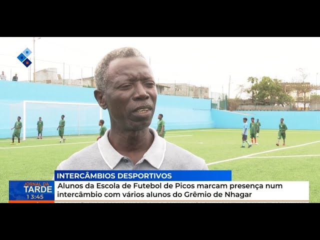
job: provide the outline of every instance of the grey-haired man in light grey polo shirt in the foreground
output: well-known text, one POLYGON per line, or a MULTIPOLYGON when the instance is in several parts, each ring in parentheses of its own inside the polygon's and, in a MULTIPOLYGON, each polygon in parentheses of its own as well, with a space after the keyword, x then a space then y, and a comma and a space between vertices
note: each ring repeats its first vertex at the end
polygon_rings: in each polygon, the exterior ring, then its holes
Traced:
POLYGON ((156 103, 148 62, 135 48, 105 55, 95 68, 94 97, 108 109, 110 129, 61 162, 57 170, 207 170, 204 160, 164 140, 149 125, 156 103))

